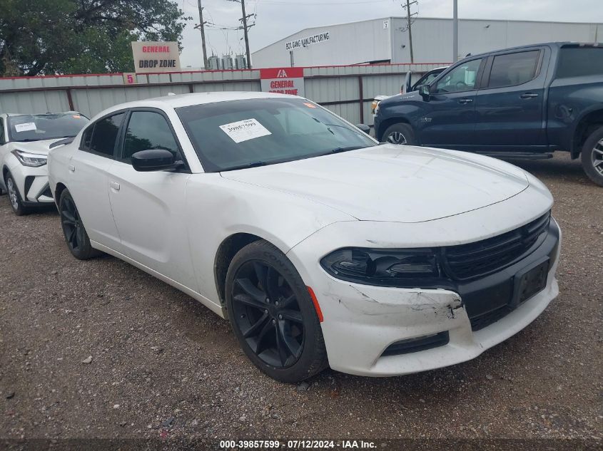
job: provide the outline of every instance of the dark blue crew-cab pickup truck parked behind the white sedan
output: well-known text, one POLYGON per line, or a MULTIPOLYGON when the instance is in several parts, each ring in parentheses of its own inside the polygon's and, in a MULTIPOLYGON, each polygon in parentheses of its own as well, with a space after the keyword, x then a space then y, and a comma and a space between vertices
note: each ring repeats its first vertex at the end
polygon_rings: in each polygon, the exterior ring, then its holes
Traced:
POLYGON ((382 100, 380 141, 502 158, 582 155, 603 186, 603 44, 543 43, 470 56, 382 100))

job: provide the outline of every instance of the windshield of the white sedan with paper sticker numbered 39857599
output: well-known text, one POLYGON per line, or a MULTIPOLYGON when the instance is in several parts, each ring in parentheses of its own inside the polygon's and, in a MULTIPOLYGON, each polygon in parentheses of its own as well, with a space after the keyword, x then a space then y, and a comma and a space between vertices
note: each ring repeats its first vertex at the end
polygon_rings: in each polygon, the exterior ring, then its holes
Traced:
POLYGON ((309 100, 259 98, 177 108, 206 172, 302 160, 377 145, 309 100))

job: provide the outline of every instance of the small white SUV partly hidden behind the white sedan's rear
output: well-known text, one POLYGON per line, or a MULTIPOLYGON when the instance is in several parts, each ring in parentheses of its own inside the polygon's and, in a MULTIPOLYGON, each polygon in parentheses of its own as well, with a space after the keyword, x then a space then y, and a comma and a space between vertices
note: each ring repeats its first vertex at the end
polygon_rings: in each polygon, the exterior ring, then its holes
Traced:
POLYGON ((0 190, 9 194, 15 214, 54 202, 46 158, 54 144, 69 142, 88 123, 76 111, 0 115, 0 190))

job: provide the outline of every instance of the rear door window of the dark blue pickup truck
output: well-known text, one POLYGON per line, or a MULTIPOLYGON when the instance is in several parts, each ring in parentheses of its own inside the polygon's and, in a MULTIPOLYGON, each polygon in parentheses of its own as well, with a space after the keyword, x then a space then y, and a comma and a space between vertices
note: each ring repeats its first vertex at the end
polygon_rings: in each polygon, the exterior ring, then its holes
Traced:
POLYGON ((538 50, 495 56, 488 88, 516 86, 532 80, 536 76, 539 56, 538 50))

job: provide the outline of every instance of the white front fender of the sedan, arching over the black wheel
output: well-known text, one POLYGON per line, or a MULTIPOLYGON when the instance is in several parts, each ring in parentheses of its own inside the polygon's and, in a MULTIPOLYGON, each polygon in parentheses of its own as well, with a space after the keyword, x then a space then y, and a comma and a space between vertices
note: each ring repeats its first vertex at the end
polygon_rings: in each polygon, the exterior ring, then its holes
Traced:
POLYGON ((214 278, 216 254, 233 234, 252 234, 283 254, 328 224, 356 220, 318 202, 245 182, 219 173, 193 174, 186 187, 186 223, 191 259, 201 295, 215 304, 220 296, 214 278))

